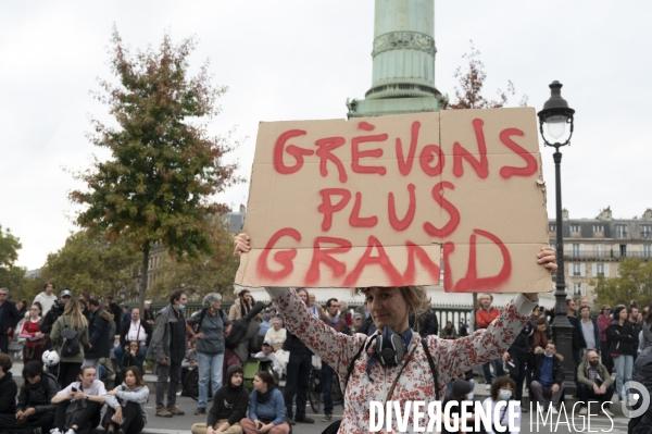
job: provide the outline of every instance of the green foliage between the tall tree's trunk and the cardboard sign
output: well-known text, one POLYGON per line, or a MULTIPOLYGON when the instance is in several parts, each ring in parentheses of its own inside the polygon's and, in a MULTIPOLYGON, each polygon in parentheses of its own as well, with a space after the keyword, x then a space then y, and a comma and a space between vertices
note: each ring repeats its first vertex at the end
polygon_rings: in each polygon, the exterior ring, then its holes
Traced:
POLYGON ((160 266, 161 276, 148 294, 164 296, 170 288, 183 287, 189 296, 220 293, 225 299, 231 299, 239 259, 234 257, 233 234, 221 219, 212 227, 211 244, 214 250, 210 255, 165 258, 160 266))

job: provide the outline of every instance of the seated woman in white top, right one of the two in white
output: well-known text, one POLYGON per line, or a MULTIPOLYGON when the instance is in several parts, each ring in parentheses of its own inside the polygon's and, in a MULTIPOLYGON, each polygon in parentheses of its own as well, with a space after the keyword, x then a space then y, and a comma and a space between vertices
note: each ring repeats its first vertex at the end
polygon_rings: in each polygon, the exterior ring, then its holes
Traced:
MULTIPOLYGON (((136 343, 138 344, 138 343, 136 343)), ((145 405, 149 388, 137 367, 124 370, 124 382, 106 392, 106 412, 102 425, 106 434, 138 434, 147 425, 145 405)))

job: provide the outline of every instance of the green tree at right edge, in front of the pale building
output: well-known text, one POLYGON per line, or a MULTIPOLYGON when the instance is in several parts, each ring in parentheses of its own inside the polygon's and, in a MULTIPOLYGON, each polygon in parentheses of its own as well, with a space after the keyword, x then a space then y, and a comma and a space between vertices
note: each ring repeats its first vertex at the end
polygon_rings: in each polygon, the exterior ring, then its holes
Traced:
POLYGON ((640 307, 649 306, 652 302, 652 261, 624 259, 616 277, 599 276, 592 284, 599 305, 629 306, 629 300, 637 300, 640 307))

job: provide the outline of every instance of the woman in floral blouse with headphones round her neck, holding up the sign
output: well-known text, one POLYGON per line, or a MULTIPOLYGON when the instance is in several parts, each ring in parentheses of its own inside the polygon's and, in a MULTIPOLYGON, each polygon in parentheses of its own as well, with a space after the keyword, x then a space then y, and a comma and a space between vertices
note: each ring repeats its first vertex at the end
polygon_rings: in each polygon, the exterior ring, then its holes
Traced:
MULTIPOLYGON (((236 256, 250 250, 247 234, 238 235, 234 243, 236 256)), ((550 272, 557 268, 555 251, 548 246, 541 249, 536 261, 550 272)), ((372 426, 383 425, 379 423, 383 414, 378 413, 385 413, 388 401, 398 401, 399 417, 405 417, 410 430, 416 431, 418 425, 432 431, 432 426, 428 427, 432 422, 428 417, 429 407, 434 409, 430 402, 443 396, 447 383, 454 375, 499 358, 538 302, 537 294, 518 294, 485 330, 456 340, 435 335, 423 339, 409 327, 410 314, 418 318, 430 305, 423 286, 358 288, 365 296, 378 332, 372 336, 347 336, 312 315, 293 288, 266 290, 278 305, 288 331, 338 373, 347 402, 340 433, 368 432, 372 426), (383 406, 381 411, 375 411, 373 420, 369 401, 383 406), (421 416, 415 420, 415 409, 408 406, 417 401, 421 401, 416 409, 421 416)), ((392 432, 406 431, 397 419, 394 414, 384 426, 390 425, 392 432)), ((385 432, 389 430, 385 427, 385 432)))

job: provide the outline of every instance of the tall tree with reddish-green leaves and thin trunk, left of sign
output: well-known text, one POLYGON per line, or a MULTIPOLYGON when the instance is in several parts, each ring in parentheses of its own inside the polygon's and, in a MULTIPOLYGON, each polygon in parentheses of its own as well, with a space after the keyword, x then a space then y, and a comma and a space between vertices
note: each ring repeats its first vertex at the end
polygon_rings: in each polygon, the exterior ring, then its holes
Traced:
POLYGON ((115 243, 125 238, 141 255, 139 301, 148 287, 149 252, 162 244, 172 256, 196 258, 212 251, 211 218, 226 207, 215 194, 240 182, 236 164, 223 158, 234 149, 229 137, 208 133, 220 113, 204 63, 190 76, 188 58, 196 40, 174 45, 166 33, 158 50, 131 53, 114 28, 110 64, 120 84, 100 82, 98 100, 117 126, 93 120, 93 145, 111 152, 75 177, 87 185, 70 199, 84 206, 76 223, 115 243))

